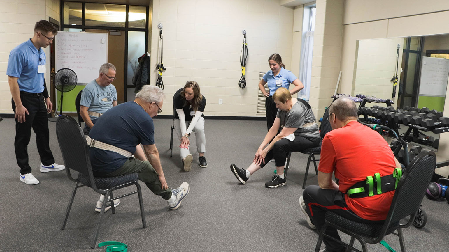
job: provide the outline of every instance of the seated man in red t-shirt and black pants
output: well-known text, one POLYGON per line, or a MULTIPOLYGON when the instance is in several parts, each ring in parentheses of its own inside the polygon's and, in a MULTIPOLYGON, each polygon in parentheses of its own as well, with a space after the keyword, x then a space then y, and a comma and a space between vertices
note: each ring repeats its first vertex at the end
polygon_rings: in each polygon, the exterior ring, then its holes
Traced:
MULTIPOLYGON (((299 197, 299 204, 311 228, 321 230, 324 215, 333 211, 348 219, 363 223, 382 223, 386 219, 394 191, 362 198, 349 198, 346 192, 367 176, 386 176, 401 168, 387 142, 379 133, 357 122, 357 107, 353 100, 339 98, 329 107, 332 131, 321 145, 318 185, 308 186, 299 197), (337 185, 332 173, 339 179, 337 185)), ((326 119, 325 119, 326 120, 326 119)), ((326 234, 339 239, 335 228, 326 234)), ((344 251, 331 239, 323 239, 326 252, 344 251)))

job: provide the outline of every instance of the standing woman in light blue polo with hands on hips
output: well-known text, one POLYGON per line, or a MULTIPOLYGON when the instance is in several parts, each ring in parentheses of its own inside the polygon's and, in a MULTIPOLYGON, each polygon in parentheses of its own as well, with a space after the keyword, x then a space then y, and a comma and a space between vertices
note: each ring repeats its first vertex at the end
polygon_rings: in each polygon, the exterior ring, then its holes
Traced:
POLYGON ((288 89, 290 84, 295 85, 295 87, 290 90, 291 95, 296 94, 299 90, 304 88, 303 83, 296 78, 295 74, 292 74, 289 70, 285 69, 285 65, 282 63, 282 58, 279 54, 273 53, 268 58, 268 63, 270 69, 264 77, 260 80, 259 88, 260 91, 267 97, 265 100, 265 113, 267 115, 267 128, 270 130, 273 126, 274 119, 276 118, 277 108, 274 100, 272 98, 274 92, 279 87, 285 87, 288 89), (268 83, 268 88, 270 92, 265 91, 265 84, 268 83))

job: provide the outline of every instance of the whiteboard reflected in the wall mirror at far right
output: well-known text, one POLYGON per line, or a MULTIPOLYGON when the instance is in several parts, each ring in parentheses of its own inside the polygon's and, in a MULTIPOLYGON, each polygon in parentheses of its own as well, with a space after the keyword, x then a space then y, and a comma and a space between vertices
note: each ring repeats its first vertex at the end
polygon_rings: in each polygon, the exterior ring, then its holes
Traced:
POLYGON ((446 96, 449 60, 423 57, 421 61, 420 96, 446 96))

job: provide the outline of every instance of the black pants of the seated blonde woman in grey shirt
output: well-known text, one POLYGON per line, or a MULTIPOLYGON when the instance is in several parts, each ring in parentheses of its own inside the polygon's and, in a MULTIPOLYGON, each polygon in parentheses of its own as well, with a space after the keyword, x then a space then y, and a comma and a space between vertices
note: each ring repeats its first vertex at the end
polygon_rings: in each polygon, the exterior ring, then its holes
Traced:
MULTIPOLYGON (((300 152, 307 148, 316 147, 320 144, 320 138, 317 137, 302 137, 295 135, 295 140, 281 139, 274 143, 273 149, 271 149, 267 156, 265 156, 265 164, 260 164, 264 167, 274 157, 276 166, 284 166, 287 153, 300 152)), ((273 141, 273 140, 272 140, 273 141)))

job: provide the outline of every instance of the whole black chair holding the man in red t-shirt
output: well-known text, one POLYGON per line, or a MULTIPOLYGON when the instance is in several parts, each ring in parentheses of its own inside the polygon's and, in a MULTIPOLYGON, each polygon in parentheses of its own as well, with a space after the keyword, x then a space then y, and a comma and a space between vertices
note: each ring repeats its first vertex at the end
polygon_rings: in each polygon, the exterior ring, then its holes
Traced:
POLYGON ((413 223, 435 167, 436 156, 430 150, 420 152, 413 159, 397 184, 387 219, 383 224, 354 222, 334 212, 327 212, 325 215, 326 224, 320 230, 315 252, 319 252, 323 236, 333 239, 324 234, 328 227, 334 227, 351 236, 349 244, 338 241, 348 249, 347 251, 360 252, 360 250, 353 247, 355 239, 361 243, 363 252, 366 252, 366 243, 379 243, 385 235, 394 234, 399 237, 401 251, 405 252, 402 229, 413 223), (401 224, 400 221, 406 217, 409 217, 408 222, 401 224), (397 233, 394 233, 395 230, 397 230, 397 233))

